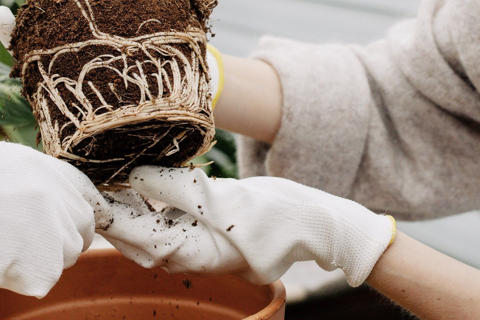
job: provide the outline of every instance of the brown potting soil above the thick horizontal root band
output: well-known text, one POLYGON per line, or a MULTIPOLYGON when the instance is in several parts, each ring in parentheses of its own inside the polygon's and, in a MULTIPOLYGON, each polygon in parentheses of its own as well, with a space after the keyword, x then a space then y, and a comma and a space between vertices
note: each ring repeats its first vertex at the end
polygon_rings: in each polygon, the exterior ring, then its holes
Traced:
MULTIPOLYGON (((189 26, 209 30, 207 19, 217 1, 212 0, 90 0, 100 31, 134 37, 165 31, 185 32, 189 26), (150 19, 160 20, 144 24, 150 19)), ((17 64, 12 76, 19 77, 24 55, 94 39, 80 8, 73 0, 27 0, 17 13, 10 49, 17 64)), ((80 54, 79 56, 81 56, 80 54)))

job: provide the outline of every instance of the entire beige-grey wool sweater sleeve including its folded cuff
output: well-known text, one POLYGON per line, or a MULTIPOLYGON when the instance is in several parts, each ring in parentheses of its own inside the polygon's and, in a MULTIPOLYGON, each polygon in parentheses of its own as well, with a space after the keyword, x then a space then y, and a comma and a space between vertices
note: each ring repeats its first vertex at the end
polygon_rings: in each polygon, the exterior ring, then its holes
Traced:
POLYGON ((277 71, 272 145, 239 138, 242 177, 284 177, 397 219, 480 208, 480 3, 425 0, 367 47, 264 37, 277 71))

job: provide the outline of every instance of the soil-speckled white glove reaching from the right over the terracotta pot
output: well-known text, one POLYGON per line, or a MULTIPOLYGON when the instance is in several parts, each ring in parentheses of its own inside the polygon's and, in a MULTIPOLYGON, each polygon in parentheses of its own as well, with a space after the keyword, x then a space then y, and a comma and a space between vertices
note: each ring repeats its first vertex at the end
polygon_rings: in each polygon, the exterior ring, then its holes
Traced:
POLYGON ((315 260, 328 271, 342 268, 358 286, 396 233, 391 217, 283 178, 215 179, 200 169, 143 166, 130 183, 188 214, 168 222, 165 212, 135 206, 114 213, 102 235, 129 259, 170 273, 236 273, 266 284, 295 261, 315 260))

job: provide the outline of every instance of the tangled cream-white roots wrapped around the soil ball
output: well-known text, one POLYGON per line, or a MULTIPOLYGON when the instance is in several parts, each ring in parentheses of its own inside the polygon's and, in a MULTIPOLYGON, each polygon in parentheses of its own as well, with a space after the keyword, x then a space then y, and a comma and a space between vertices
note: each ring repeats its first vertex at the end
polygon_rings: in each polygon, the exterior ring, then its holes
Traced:
MULTIPOLYGON (((119 166, 121 169, 115 173, 115 175, 117 175, 122 169, 129 166, 139 154, 128 159, 94 160, 74 154, 73 148, 86 138, 95 137, 107 130, 122 130, 122 127, 126 125, 138 124, 153 119, 161 121, 158 127, 168 128, 168 125, 189 124, 191 127, 200 130, 204 134, 204 142, 198 153, 194 156, 204 154, 208 151, 210 147, 209 142, 215 135, 215 127, 213 124, 211 99, 209 95, 210 84, 207 78, 207 68, 201 54, 201 46, 206 46, 205 33, 200 29, 191 28, 187 33, 161 32, 134 38, 109 35, 98 30, 88 0, 74 1, 82 11, 84 18, 88 21, 94 39, 55 47, 50 50, 31 51, 26 55, 22 68, 22 78, 25 79, 24 76, 27 67, 32 62, 36 62, 43 79, 43 81, 38 84, 36 94, 34 94, 33 97, 29 97, 29 100, 35 102, 34 108, 39 115, 40 130, 46 153, 70 161, 92 163, 125 161, 124 166, 119 166), (187 44, 192 49, 191 56, 185 56, 180 50, 173 47, 173 44, 187 44), (104 54, 95 57, 84 65, 77 79, 62 77, 60 74, 52 74, 51 71, 54 63, 61 55, 76 53, 84 47, 92 45, 114 48, 118 51, 118 55, 104 54), (155 58, 151 54, 152 50, 158 52, 161 58, 155 58), (133 53, 140 51, 144 53, 146 60, 136 60, 134 65, 129 66, 127 57, 132 57, 133 53), (45 55, 53 55, 48 66, 42 63, 42 56, 45 55), (119 70, 113 66, 116 61, 123 62, 123 69, 119 70), (146 64, 154 65, 157 72, 145 74, 144 65, 146 64), (164 69, 167 64, 173 74, 171 77, 164 69), (138 97, 139 103, 122 106, 117 109, 108 105, 102 93, 95 85, 90 81, 85 82, 86 75, 90 71, 98 68, 107 68, 115 71, 118 76, 123 79, 125 88, 128 88, 129 85, 138 86, 141 93, 138 97), (202 68, 204 72, 200 72, 200 68, 202 68), (133 72, 132 69, 136 69, 136 72, 133 72), (183 78, 180 69, 184 71, 183 78), (157 92, 151 90, 147 79, 155 79, 154 81, 156 81, 158 86, 157 92), (164 81, 167 85, 169 95, 164 95, 164 81), (72 103, 72 106, 69 108, 59 93, 59 85, 64 85, 76 98, 78 103, 72 103), (95 93, 98 98, 97 101, 89 101, 86 98, 82 90, 84 85, 88 85, 95 93), (50 117, 49 107, 51 106, 49 106, 49 104, 51 103, 48 97, 55 103, 56 107, 60 109, 61 113, 70 120, 61 127, 58 121, 53 122, 50 117), (94 104, 97 106, 100 104, 101 107, 94 107, 94 104), (72 112, 72 107, 78 112, 72 112), (99 111, 103 113, 99 113, 99 111), (206 112, 201 113, 201 111, 206 112), (205 113, 208 114, 208 116, 205 115, 205 113), (69 126, 74 126, 74 132, 61 139, 62 131, 69 126)), ((147 23, 160 23, 160 21, 155 19, 145 21, 139 26, 137 34, 141 27, 147 23)), ((117 97, 119 103, 121 103, 122 98, 115 90, 113 83, 108 83, 108 87, 117 97)), ((145 126, 145 128, 147 127, 145 126)), ((151 123, 148 128, 152 128, 151 123)), ((167 146, 162 154, 158 154, 156 160, 162 156, 168 156, 178 152, 180 150, 179 142, 185 139, 188 135, 186 133, 187 132, 184 131, 175 137, 171 145, 167 146)), ((155 145, 160 138, 161 137, 153 138, 152 144, 150 144, 144 152, 155 145)), ((189 160, 190 159, 187 159, 186 161, 188 162, 189 160)))

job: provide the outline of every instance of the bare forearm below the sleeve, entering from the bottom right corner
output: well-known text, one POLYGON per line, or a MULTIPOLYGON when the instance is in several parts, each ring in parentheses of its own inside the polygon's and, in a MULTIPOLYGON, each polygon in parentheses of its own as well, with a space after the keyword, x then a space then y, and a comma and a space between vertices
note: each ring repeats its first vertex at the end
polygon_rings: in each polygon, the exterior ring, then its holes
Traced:
POLYGON ((398 232, 367 279, 420 319, 475 319, 480 271, 398 232))

